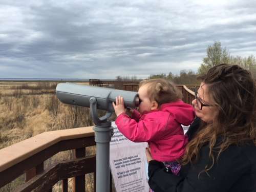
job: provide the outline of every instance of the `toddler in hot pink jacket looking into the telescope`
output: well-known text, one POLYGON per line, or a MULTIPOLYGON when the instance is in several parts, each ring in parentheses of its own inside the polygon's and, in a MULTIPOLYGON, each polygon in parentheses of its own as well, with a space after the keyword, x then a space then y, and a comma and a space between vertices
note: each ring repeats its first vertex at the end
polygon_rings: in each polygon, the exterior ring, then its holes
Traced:
POLYGON ((178 175, 181 166, 177 161, 188 142, 181 124, 194 120, 193 107, 184 103, 180 92, 165 79, 141 81, 138 96, 139 109, 132 110, 132 117, 125 113, 121 96, 113 102, 118 130, 134 142, 148 142, 153 159, 178 175))

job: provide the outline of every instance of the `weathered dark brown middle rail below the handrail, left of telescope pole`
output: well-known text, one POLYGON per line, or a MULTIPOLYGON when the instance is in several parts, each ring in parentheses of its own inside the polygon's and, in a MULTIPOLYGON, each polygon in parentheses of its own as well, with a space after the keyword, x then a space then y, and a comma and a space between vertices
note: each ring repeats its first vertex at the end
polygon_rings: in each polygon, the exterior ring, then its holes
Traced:
MULTIPOLYGON (((63 161, 59 164, 54 164, 43 173, 35 176, 16 192, 35 192, 48 191, 59 180, 77 177, 88 173, 93 173, 96 170, 96 156, 88 156, 76 160, 63 161)), ((80 192, 80 191, 79 191, 80 192)))

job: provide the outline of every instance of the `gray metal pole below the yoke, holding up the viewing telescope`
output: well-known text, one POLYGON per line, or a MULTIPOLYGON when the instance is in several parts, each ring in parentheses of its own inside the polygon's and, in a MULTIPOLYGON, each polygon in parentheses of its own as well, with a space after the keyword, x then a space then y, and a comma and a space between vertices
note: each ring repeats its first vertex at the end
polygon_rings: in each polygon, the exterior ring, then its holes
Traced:
POLYGON ((96 142, 96 192, 110 189, 110 141, 113 127, 94 126, 96 142))

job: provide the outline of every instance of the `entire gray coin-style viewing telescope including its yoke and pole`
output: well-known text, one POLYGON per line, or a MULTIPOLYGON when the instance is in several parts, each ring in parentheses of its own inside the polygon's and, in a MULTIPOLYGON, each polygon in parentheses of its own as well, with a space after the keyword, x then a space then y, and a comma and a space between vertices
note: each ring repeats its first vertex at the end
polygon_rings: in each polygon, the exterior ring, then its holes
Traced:
POLYGON ((96 192, 109 192, 110 180, 110 141, 113 127, 108 118, 114 112, 112 102, 121 95, 126 108, 135 108, 140 99, 136 92, 122 91, 94 86, 84 86, 75 83, 59 83, 56 87, 57 98, 67 104, 86 106, 90 108, 95 123, 96 142, 96 192), (98 117, 97 109, 106 111, 103 117, 98 117))

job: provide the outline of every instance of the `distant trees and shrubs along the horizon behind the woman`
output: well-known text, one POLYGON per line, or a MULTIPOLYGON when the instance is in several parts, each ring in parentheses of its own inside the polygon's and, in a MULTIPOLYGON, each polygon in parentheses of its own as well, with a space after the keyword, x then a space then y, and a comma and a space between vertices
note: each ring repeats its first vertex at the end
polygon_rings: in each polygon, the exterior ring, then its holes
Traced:
MULTIPOLYGON (((221 47, 220 41, 215 41, 212 46, 208 46, 206 50, 206 57, 203 58, 197 72, 191 70, 181 70, 179 75, 175 75, 172 72, 151 74, 148 79, 165 78, 173 81, 175 84, 199 84, 197 76, 206 74, 207 71, 214 66, 221 63, 227 63, 230 65, 239 65, 244 69, 251 71, 252 75, 256 78, 256 59, 255 56, 250 55, 248 57, 232 56, 226 48, 221 47)), ((136 76, 117 76, 117 80, 136 80, 136 76)))

